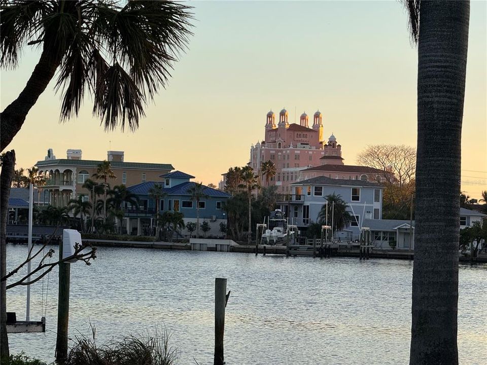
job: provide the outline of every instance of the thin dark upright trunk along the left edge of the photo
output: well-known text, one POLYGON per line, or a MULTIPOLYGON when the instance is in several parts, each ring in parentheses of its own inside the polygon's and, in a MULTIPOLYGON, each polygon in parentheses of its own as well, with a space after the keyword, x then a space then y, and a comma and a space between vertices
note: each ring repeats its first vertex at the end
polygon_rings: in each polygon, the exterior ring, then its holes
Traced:
MULTIPOLYGON (((14 175, 15 151, 5 154, 0 174, 0 277, 7 274, 7 218, 10 196, 10 184, 14 175)), ((7 281, 0 282, 0 356, 8 357, 9 338, 7 335, 7 281)))

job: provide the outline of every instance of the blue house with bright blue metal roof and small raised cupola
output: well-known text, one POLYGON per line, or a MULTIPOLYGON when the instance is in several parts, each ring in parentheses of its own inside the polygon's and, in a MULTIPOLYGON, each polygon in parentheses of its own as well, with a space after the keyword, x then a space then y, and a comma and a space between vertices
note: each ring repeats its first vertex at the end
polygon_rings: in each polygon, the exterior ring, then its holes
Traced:
MULTIPOLYGON (((150 234, 153 227, 156 226, 156 222, 154 222, 156 211, 179 211, 184 214, 185 224, 196 223, 196 201, 191 200, 189 193, 190 189, 196 185, 196 182, 190 181, 194 176, 181 171, 173 171, 159 177, 162 178, 162 181, 147 181, 127 188, 140 199, 138 209, 131 206, 125 207, 123 227, 126 227, 127 233, 150 234), (165 196, 160 199, 158 207, 156 207, 156 199, 150 196, 151 188, 156 184, 162 185, 165 193, 165 196)), ((199 201, 199 224, 208 222, 211 230, 206 235, 220 236, 222 235, 220 223, 227 223, 227 216, 222 205, 230 195, 207 186, 203 186, 203 193, 208 197, 199 201)), ((186 229, 182 233, 189 236, 186 229)))

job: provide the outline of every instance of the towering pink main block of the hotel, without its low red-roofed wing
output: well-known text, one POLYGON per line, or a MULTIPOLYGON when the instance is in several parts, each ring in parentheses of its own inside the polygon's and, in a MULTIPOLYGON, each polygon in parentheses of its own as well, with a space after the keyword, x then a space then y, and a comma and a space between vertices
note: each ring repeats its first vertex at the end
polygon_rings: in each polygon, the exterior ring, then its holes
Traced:
POLYGON ((283 109, 279 120, 272 111, 267 113, 265 139, 252 145, 250 166, 260 174, 264 161, 272 161, 276 168, 275 176, 266 181, 262 176, 262 186, 275 185, 279 193, 290 193, 289 184, 299 179, 300 171, 323 164, 343 165, 341 146, 332 134, 328 142, 323 139, 323 116, 316 112, 312 125, 303 113, 299 124, 288 122, 288 112, 283 109))

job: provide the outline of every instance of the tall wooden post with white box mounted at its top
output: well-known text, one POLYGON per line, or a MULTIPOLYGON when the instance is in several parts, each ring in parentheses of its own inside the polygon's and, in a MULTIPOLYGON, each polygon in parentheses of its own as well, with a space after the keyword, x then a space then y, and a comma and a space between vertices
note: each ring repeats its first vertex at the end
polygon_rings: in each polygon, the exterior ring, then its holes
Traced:
MULTIPOLYGON (((62 240, 59 241, 59 260, 62 260, 62 240)), ((67 327, 69 323, 69 275, 71 264, 59 264, 57 302, 56 363, 64 365, 67 357, 67 327)))

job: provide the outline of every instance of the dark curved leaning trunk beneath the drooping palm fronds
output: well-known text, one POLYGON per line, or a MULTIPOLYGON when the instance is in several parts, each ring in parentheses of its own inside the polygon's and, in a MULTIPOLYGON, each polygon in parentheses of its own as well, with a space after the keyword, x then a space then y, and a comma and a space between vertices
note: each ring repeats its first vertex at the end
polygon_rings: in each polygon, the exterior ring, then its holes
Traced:
POLYGON ((41 58, 22 92, 0 114, 0 130, 2 130, 0 151, 4 150, 12 141, 22 127, 30 109, 54 77, 56 69, 61 63, 61 57, 56 57, 55 54, 56 52, 44 48, 41 58))

